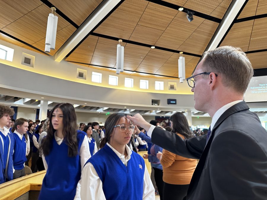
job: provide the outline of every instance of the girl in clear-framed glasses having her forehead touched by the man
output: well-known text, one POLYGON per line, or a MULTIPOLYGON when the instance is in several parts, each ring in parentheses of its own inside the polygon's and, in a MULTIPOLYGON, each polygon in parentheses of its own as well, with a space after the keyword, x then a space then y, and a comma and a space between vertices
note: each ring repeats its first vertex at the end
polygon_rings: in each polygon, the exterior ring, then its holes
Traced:
POLYGON ((114 113, 105 122, 106 137, 100 150, 82 171, 82 199, 155 199, 144 159, 128 143, 134 124, 124 113, 114 113))

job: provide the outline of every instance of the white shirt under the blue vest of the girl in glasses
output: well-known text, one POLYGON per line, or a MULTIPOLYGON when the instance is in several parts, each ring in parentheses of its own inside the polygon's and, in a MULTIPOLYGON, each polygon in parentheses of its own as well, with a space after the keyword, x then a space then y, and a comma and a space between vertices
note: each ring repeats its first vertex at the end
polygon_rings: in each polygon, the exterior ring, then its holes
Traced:
MULTIPOLYGON (((109 143, 107 143, 107 145, 116 153, 116 155, 120 158, 123 164, 127 166, 128 161, 131 159, 131 154, 132 154, 131 149, 127 145, 125 145, 125 149, 128 154, 125 158, 124 155, 120 154, 116 149, 112 148, 112 146, 109 143)), ((101 179, 99 178, 96 172, 96 169, 90 162, 88 162, 84 166, 83 171, 82 171, 82 179, 79 181, 79 183, 81 184, 81 199, 82 200, 84 199, 106 200, 106 197, 103 191, 103 183, 101 179)), ((120 188, 118 188, 118 190, 119 189, 120 188)), ((155 189, 151 182, 146 166, 144 170, 143 199, 146 199, 146 200, 155 199, 155 189)))

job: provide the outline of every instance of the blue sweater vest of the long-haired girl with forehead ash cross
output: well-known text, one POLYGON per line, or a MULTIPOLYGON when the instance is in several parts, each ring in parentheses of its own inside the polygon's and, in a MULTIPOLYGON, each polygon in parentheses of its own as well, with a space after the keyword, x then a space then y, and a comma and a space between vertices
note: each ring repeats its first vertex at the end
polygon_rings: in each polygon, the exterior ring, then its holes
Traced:
POLYGON ((86 133, 77 131, 78 154, 68 156, 65 140, 58 145, 53 138, 50 153, 45 156, 47 172, 43 180, 39 200, 74 199, 77 183, 81 178, 80 148, 86 133))

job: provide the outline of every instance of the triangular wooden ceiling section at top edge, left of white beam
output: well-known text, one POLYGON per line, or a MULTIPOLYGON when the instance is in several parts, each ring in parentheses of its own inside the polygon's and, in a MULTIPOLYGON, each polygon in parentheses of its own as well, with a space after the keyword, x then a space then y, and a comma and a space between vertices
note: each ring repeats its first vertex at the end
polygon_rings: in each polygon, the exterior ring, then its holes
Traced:
POLYGON ((49 0, 55 7, 63 12, 77 25, 82 22, 96 9, 102 0, 49 0))

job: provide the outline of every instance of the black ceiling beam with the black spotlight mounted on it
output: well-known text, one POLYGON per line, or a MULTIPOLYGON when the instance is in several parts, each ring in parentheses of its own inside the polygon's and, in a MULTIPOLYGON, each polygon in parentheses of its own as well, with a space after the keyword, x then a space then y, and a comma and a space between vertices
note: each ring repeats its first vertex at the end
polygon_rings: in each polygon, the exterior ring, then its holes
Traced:
POLYGON ((182 7, 184 9, 181 12, 187 13, 187 11, 192 11, 193 12, 193 15, 195 15, 197 17, 201 17, 201 18, 204 18, 206 20, 210 20, 210 21, 217 22, 217 23, 220 23, 222 21, 220 18, 212 17, 210 15, 206 15, 204 13, 197 12, 195 10, 188 9, 188 8, 183 7, 183 6, 178 6, 176 4, 171 4, 171 3, 167 2, 167 1, 162 1, 162 0, 146 0, 146 1, 150 1, 152 3, 159 4, 161 6, 165 6, 165 7, 168 7, 168 8, 175 9, 175 10, 178 10, 179 8, 182 7))

